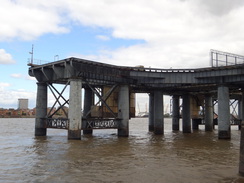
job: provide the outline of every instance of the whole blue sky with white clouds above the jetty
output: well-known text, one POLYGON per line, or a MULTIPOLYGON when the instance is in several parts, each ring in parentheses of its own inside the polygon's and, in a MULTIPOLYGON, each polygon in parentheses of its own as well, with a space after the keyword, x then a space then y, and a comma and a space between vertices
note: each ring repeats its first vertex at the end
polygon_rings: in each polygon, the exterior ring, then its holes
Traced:
POLYGON ((34 62, 165 69, 209 67, 210 49, 244 55, 243 0, 1 0, 0 14, 0 108, 35 107, 32 45, 34 62))

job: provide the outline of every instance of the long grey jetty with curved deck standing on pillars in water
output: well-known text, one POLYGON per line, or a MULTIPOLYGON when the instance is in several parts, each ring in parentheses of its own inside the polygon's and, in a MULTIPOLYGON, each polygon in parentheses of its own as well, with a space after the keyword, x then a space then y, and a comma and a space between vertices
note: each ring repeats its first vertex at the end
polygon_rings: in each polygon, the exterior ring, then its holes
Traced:
MULTIPOLYGON (((91 134, 94 129, 115 128, 118 136, 127 137, 129 119, 135 116, 135 94, 148 93, 149 131, 164 133, 163 96, 168 95, 172 97, 172 130, 179 130, 182 117, 183 133, 191 133, 199 124, 212 131, 214 101, 218 101, 218 138, 230 139, 230 100, 238 101, 239 126, 244 116, 244 57, 212 50, 211 59, 211 67, 197 69, 125 67, 74 57, 30 64, 29 75, 37 79, 35 135, 46 136, 47 128, 62 128, 68 130, 68 139, 81 139, 81 131, 91 134), (69 86, 68 99, 55 84, 69 86), (66 118, 47 114, 48 88, 57 92, 57 110, 69 106, 66 118)), ((244 175, 243 138, 242 132, 240 173, 244 175)))

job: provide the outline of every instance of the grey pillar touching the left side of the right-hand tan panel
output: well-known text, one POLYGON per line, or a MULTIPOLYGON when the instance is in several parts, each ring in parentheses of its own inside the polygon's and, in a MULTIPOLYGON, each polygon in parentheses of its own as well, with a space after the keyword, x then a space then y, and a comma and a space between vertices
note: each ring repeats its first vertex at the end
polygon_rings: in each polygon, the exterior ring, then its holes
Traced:
POLYGON ((191 133, 191 98, 189 94, 183 95, 182 129, 183 133, 191 133))

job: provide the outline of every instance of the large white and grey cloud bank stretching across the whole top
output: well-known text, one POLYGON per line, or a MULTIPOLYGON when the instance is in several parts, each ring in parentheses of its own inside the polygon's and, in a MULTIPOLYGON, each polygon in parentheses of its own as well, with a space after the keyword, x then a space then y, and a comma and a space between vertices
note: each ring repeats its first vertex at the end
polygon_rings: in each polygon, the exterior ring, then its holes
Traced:
POLYGON ((242 0, 3 0, 0 11, 0 41, 67 33, 73 24, 109 28, 96 36, 104 41, 144 40, 85 55, 112 64, 207 67, 210 49, 244 55, 242 0))

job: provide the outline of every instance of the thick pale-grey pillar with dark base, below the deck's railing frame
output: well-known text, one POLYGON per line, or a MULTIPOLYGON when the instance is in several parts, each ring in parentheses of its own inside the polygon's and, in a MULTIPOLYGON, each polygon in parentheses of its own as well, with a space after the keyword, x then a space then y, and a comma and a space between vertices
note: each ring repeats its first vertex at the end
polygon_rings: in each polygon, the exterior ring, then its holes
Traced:
POLYGON ((218 138, 230 139, 229 88, 218 87, 218 138))

